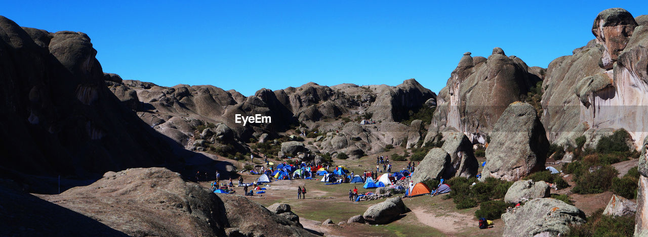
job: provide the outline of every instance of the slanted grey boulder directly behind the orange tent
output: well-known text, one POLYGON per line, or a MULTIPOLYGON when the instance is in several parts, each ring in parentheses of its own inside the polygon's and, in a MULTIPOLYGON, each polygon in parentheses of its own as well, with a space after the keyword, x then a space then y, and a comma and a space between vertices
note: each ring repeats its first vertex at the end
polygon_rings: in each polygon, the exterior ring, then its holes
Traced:
POLYGON ((421 164, 416 166, 416 172, 411 175, 414 183, 419 183, 428 179, 449 179, 454 175, 452 164, 450 164, 450 155, 443 148, 432 148, 428 152, 421 164))

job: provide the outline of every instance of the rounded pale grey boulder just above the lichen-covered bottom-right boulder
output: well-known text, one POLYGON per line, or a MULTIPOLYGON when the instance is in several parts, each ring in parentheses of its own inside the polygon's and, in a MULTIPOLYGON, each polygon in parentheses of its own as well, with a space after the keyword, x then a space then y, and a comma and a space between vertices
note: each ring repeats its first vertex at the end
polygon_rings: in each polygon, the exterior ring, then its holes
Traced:
POLYGON ((533 180, 520 180, 511 185, 506 191, 504 201, 507 203, 518 203, 529 201, 534 198, 549 198, 551 188, 544 181, 534 182, 533 180))

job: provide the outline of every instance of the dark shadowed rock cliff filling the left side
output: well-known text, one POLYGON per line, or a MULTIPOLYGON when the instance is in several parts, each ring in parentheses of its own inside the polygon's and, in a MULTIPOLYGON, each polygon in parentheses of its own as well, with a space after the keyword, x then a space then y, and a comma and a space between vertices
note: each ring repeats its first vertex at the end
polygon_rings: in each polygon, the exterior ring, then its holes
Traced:
POLYGON ((21 28, 0 16, 1 167, 100 177, 181 161, 108 90, 96 54, 84 33, 21 28))

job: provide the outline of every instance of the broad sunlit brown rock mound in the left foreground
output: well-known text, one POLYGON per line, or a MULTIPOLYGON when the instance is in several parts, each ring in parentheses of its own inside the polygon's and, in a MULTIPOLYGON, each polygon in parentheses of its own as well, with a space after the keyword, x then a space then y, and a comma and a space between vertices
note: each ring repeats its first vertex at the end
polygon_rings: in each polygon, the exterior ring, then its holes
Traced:
POLYGON ((91 185, 40 198, 130 236, 221 236, 227 227, 218 197, 164 168, 108 172, 91 185))

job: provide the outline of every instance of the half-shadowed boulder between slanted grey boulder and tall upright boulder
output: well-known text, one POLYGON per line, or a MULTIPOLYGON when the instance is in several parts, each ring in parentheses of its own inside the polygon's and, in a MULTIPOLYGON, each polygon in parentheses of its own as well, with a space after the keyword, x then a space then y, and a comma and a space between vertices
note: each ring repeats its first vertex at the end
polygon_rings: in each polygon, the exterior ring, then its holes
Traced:
POLYGON ((450 168, 456 177, 474 177, 477 175, 479 163, 472 150, 472 142, 463 133, 451 133, 446 136, 443 150, 450 155, 450 168))

